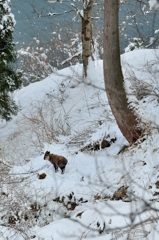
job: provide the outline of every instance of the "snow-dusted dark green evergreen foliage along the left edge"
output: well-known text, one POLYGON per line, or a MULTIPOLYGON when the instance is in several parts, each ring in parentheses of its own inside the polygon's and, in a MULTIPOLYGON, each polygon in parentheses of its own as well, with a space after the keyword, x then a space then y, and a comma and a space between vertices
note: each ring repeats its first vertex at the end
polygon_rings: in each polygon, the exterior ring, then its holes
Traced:
POLYGON ((21 73, 14 66, 17 60, 12 36, 15 20, 9 3, 10 0, 0 0, 0 116, 7 121, 18 110, 11 92, 21 86, 21 73))

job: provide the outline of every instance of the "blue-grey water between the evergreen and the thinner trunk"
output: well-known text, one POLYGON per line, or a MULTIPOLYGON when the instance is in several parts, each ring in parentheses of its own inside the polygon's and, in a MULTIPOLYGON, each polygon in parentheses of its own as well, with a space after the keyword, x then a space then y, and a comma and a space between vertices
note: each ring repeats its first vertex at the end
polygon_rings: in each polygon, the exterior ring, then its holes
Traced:
POLYGON ((50 29, 59 23, 63 26, 66 22, 71 21, 73 14, 62 14, 54 17, 45 17, 48 12, 63 13, 70 10, 70 2, 55 4, 46 0, 12 0, 12 13, 15 16, 16 26, 14 32, 15 42, 28 43, 33 37, 39 36, 47 38, 50 29), (38 14, 44 17, 39 17, 38 14), (49 29, 49 30, 48 30, 49 29))

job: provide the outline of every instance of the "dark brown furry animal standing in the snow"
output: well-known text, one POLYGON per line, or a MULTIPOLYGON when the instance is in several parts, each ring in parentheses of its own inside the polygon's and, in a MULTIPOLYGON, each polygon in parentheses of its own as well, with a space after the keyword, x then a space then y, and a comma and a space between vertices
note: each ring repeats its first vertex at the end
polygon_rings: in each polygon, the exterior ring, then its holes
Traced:
POLYGON ((65 171, 65 167, 67 164, 67 159, 63 156, 59 156, 56 154, 52 154, 49 151, 46 151, 44 154, 44 160, 50 161, 55 168, 55 172, 58 171, 58 167, 61 169, 61 173, 63 174, 65 171))

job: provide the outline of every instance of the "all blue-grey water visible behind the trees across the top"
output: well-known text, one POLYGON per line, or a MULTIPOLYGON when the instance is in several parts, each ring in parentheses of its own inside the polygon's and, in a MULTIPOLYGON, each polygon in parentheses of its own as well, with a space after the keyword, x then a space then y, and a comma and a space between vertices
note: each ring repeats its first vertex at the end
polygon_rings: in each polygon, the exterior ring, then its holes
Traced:
MULTIPOLYGON (((17 22, 14 32, 14 41, 19 42, 20 45, 25 42, 28 44, 33 37, 41 38, 43 40, 49 39, 49 33, 54 31, 55 26, 59 27, 73 26, 74 29, 79 29, 81 20, 79 17, 72 21, 75 16, 74 13, 62 14, 54 17, 38 17, 38 14, 46 15, 48 12, 62 13, 73 8, 70 7, 72 1, 65 0, 63 3, 49 3, 46 0, 11 0, 12 13, 15 15, 17 22), (38 14, 37 14, 37 13, 38 14), (51 30, 50 30, 51 29, 51 30)), ((78 1, 77 1, 78 2, 78 1)), ((77 4, 75 2, 75 5, 77 4)), ((148 8, 148 0, 145 0, 148 8)), ((80 5, 80 3, 79 3, 80 5)), ((82 9, 82 0, 81 0, 82 9)), ((146 15, 143 10, 143 5, 136 0, 129 0, 127 4, 120 5, 119 23, 125 22, 123 35, 120 37, 121 49, 124 49, 129 43, 131 37, 149 37, 152 35, 154 29, 159 28, 158 12, 146 15), (134 19, 130 16, 136 16, 134 19), (155 16, 155 18, 154 18, 155 16), (152 22, 154 21, 154 24, 152 22)), ((100 16, 103 19, 103 13, 100 16)), ((103 21, 97 23, 103 31, 103 21)))

